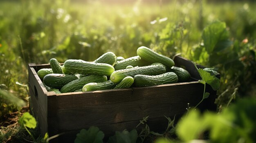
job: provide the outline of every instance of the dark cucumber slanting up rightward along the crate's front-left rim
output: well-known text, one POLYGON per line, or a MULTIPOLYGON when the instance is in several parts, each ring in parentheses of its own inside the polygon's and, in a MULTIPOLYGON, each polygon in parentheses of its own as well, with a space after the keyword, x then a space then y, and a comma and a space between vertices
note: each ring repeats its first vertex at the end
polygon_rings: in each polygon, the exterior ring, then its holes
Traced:
POLYGON ((61 93, 74 92, 83 88, 85 84, 90 82, 103 82, 107 81, 105 75, 89 75, 87 77, 81 77, 80 79, 73 80, 61 88, 61 93))

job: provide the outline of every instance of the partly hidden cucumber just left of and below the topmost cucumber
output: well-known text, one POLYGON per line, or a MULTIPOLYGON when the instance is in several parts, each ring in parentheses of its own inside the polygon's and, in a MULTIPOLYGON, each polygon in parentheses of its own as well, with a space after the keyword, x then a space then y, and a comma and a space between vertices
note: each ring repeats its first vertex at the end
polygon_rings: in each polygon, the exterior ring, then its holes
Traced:
POLYGON ((135 56, 135 57, 129 57, 128 59, 124 59, 121 60, 119 62, 117 62, 114 66, 115 70, 121 70, 121 69, 125 69, 127 66, 148 66, 150 64, 152 64, 153 62, 147 62, 143 59, 141 59, 141 57, 139 56, 135 56))

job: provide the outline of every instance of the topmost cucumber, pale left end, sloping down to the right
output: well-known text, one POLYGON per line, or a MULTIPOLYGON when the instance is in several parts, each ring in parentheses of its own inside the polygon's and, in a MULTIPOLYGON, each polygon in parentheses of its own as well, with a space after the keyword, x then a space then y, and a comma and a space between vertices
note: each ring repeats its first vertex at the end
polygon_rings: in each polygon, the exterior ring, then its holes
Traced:
POLYGON ((161 55, 145 46, 141 46, 137 49, 137 55, 148 62, 159 62, 169 67, 174 66, 174 62, 171 58, 161 55))

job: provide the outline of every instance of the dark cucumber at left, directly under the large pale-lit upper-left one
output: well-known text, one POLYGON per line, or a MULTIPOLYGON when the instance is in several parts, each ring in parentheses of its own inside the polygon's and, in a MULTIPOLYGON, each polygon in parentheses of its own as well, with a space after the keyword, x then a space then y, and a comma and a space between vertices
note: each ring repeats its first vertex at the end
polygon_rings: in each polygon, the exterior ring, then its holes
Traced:
POLYGON ((45 75, 43 81, 45 85, 51 87, 51 88, 57 88, 61 89, 62 86, 65 84, 79 79, 80 77, 84 77, 85 75, 64 75, 64 74, 57 74, 57 73, 52 73, 45 75))

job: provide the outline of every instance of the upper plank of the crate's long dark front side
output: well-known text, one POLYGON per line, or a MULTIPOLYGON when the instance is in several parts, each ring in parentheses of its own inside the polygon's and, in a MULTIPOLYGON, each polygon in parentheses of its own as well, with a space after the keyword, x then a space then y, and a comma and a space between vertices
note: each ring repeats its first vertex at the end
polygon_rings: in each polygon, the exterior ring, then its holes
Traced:
POLYGON ((58 128, 60 132, 77 130, 91 125, 140 120, 147 115, 152 119, 164 115, 172 117, 183 114, 187 103, 195 106, 201 100, 202 90, 202 84, 184 84, 134 88, 130 92, 57 96, 58 128))

